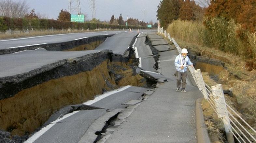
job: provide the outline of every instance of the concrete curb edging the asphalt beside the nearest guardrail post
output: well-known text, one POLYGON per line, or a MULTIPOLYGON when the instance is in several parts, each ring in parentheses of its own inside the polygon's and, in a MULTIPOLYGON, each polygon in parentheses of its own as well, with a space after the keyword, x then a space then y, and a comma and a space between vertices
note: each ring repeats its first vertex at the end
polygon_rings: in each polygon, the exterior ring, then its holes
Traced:
POLYGON ((205 119, 203 115, 203 109, 201 106, 201 98, 195 102, 195 117, 196 117, 196 134, 197 143, 211 143, 208 131, 205 125, 205 119))

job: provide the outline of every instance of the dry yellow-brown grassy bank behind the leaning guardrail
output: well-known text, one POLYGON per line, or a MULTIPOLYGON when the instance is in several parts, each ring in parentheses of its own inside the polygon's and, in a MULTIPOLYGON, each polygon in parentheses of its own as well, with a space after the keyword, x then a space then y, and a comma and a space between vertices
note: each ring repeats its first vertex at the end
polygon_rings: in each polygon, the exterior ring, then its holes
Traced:
MULTIPOLYGON (((230 53, 224 53, 218 49, 177 41, 180 47, 189 49, 192 54, 206 56, 209 59, 217 59, 225 63, 225 67, 219 74, 216 74, 217 78, 215 76, 211 79, 210 71, 203 73, 204 81, 209 86, 221 83, 224 90, 232 90, 232 97, 225 94, 227 104, 238 111, 249 125, 256 129, 256 70, 247 65, 248 62, 246 61, 248 60, 230 53)), ((201 65, 200 68, 206 68, 206 66, 201 65)), ((207 101, 202 102, 202 106, 206 125, 210 125, 207 126, 209 134, 212 132, 211 130, 214 130, 214 134, 224 141, 222 121, 217 118, 214 111, 211 111, 207 101)))

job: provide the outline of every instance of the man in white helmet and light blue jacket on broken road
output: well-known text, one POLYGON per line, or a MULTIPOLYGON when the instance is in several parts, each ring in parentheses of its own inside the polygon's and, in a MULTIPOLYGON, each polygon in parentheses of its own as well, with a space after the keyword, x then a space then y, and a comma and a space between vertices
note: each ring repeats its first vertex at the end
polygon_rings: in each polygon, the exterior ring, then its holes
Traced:
POLYGON ((176 75, 177 75, 177 89, 176 91, 179 91, 179 88, 181 86, 181 92, 187 92, 185 90, 187 85, 187 65, 190 65, 193 68, 193 63, 190 61, 189 57, 187 56, 188 50, 182 49, 181 54, 179 54, 175 59, 175 66, 176 66, 176 75), (182 80, 182 82, 181 82, 182 80), (181 85, 182 84, 182 85, 181 85))

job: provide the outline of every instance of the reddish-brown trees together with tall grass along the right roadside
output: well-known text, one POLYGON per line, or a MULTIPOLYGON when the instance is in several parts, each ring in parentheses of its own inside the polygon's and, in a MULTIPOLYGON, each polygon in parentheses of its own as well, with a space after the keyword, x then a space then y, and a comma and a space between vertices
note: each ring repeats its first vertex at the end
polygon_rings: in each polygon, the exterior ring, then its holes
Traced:
POLYGON ((180 35, 184 39, 199 33, 200 45, 256 59, 256 0, 199 0, 199 4, 202 7, 193 0, 160 1, 157 18, 161 27, 169 26, 178 35, 177 27, 182 25, 187 30, 180 35))

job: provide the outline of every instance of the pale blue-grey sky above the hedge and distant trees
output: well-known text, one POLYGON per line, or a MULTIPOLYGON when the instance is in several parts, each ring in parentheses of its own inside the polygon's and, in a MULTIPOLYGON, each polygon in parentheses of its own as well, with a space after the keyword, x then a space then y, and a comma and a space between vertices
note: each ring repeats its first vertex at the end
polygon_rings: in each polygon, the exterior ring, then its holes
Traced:
MULTIPOLYGON (((15 0, 20 1, 20 0, 15 0)), ((22 0, 21 0, 22 1, 22 0)), ((43 14, 48 18, 56 19, 61 9, 68 10, 69 0, 25 0, 30 10, 35 8, 36 13, 43 14)), ((101 21, 111 19, 114 14, 115 18, 120 16, 126 20, 133 17, 139 20, 149 22, 157 21, 156 11, 160 0, 96 0, 96 18, 101 21), (145 18, 144 18, 145 11, 145 18)), ((92 12, 89 8, 88 0, 80 0, 81 11, 88 15, 88 19, 92 19, 92 12)))

